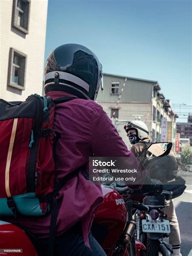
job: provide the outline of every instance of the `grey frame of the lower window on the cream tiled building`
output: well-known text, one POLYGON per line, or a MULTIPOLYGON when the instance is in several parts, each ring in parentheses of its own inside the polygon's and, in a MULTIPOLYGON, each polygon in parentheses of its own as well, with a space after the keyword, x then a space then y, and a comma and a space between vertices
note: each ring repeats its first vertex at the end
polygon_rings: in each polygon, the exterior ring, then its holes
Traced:
POLYGON ((27 66, 27 55, 17 51, 16 49, 10 48, 10 52, 9 52, 9 68, 8 68, 8 79, 7 79, 7 85, 11 86, 11 87, 15 87, 19 90, 25 90, 25 84, 26 84, 26 66, 27 66), (22 65, 17 65, 14 64, 14 55, 18 55, 20 58, 25 58, 24 62, 23 62, 23 67, 22 65), (18 83, 15 83, 13 81, 13 70, 16 68, 24 68, 23 72, 24 74, 22 75, 22 80, 23 80, 23 85, 19 85, 18 83))

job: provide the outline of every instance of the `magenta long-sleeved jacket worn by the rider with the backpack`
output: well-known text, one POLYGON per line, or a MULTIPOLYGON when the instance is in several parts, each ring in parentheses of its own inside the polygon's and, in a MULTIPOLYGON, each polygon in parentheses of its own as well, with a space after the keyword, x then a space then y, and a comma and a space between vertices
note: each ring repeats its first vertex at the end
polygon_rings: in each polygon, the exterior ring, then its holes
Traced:
MULTIPOLYGON (((64 92, 49 92, 53 99, 72 96, 64 92)), ((90 156, 132 156, 115 126, 93 100, 73 99, 58 104, 55 109, 54 130, 61 134, 56 145, 56 177, 58 181, 68 173, 85 165, 90 156)), ((46 154, 46 152, 45 152, 46 154)), ((135 159, 135 158, 134 158, 135 159)), ((88 170, 87 170, 88 171, 88 170)), ((140 170, 138 179, 143 184, 145 169, 140 170)), ((79 172, 60 190, 58 195, 58 220, 56 235, 81 220, 85 245, 89 247, 88 235, 94 213, 102 205, 100 185, 87 181, 79 172)), ((49 237, 50 213, 41 217, 18 217, 39 238, 49 237)))

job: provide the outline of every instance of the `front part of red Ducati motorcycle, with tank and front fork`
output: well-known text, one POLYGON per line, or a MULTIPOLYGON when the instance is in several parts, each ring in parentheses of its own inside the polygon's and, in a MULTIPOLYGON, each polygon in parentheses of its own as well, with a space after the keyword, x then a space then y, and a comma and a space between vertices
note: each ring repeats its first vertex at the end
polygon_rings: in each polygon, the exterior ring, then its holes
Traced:
POLYGON ((102 186, 102 192, 104 203, 95 214, 92 235, 107 256, 142 256, 146 248, 135 239, 136 222, 132 214, 137 209, 149 209, 142 204, 146 195, 115 184, 102 186))

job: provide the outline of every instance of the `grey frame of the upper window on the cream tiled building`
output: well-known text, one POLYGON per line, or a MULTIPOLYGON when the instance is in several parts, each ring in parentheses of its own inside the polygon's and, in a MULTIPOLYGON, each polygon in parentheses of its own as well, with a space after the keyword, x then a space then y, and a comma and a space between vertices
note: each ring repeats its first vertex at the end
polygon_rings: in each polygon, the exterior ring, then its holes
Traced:
POLYGON ((23 32, 24 34, 29 34, 29 20, 30 20, 30 4, 31 4, 31 0, 13 0, 13 13, 12 13, 12 26, 14 28, 17 28, 18 30, 20 30, 21 32, 23 32), (28 17, 26 18, 27 19, 27 28, 24 28, 22 26, 19 26, 17 24, 17 17, 18 17, 18 14, 19 12, 23 12, 23 23, 25 22, 24 19, 24 15, 25 15, 25 10, 22 10, 20 9, 18 6, 17 6, 17 2, 18 1, 22 1, 22 2, 25 2, 28 4, 28 17))

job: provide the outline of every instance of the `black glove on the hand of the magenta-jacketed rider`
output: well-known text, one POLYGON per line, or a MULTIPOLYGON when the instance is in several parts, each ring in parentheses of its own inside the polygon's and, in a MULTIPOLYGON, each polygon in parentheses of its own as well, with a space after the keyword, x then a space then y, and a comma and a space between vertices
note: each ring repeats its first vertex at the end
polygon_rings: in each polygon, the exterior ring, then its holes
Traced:
POLYGON ((158 179, 151 179, 146 175, 144 185, 141 188, 141 193, 147 196, 158 196, 163 191, 163 184, 158 179))

